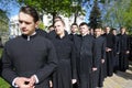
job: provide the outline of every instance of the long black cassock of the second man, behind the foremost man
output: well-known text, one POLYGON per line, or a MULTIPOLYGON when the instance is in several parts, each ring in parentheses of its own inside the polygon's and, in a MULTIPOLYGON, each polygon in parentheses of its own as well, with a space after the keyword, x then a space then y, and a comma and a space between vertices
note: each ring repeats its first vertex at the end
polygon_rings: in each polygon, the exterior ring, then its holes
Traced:
POLYGON ((69 36, 55 36, 51 40, 56 48, 58 66, 53 75, 53 88, 72 88, 72 79, 76 79, 76 55, 74 43, 69 36))

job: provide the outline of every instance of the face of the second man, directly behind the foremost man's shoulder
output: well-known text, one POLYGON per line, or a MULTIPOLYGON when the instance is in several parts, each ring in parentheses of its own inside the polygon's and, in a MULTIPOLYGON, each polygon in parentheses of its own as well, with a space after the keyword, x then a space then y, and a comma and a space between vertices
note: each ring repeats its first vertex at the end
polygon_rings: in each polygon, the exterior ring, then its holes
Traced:
POLYGON ((54 28, 55 28, 55 32, 57 35, 61 35, 64 33, 64 24, 62 23, 62 21, 56 21, 55 24, 54 24, 54 28))

